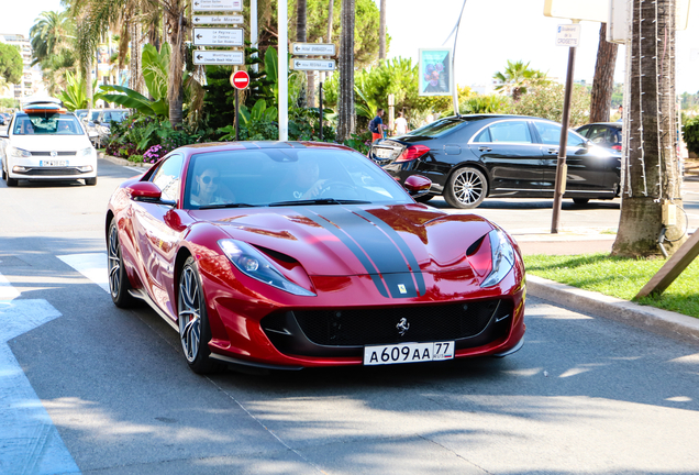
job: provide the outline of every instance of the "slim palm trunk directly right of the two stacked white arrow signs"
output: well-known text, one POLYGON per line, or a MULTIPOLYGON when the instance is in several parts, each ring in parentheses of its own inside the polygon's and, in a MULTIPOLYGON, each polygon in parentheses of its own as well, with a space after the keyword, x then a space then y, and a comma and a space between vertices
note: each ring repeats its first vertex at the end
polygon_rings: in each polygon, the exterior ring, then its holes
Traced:
POLYGON ((340 97, 337 98, 337 140, 344 142, 354 133, 354 0, 342 2, 342 37, 340 40, 340 97))

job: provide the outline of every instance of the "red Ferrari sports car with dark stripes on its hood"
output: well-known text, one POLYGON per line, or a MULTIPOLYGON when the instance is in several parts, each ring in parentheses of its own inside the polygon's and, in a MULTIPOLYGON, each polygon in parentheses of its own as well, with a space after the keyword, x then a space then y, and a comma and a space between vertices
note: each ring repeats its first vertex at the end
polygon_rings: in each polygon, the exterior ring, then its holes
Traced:
POLYGON ((110 199, 112 299, 147 301, 197 373, 513 353, 520 251, 481 217, 417 203, 430 185, 341 145, 180 147, 110 199))

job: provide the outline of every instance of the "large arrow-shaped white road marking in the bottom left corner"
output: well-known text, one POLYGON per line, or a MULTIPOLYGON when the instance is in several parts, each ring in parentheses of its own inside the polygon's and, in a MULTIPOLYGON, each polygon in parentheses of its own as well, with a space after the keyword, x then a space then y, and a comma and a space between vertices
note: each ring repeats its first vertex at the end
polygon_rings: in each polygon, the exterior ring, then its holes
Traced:
POLYGON ((46 300, 19 296, 0 274, 0 473, 80 473, 8 345, 60 312, 46 300))

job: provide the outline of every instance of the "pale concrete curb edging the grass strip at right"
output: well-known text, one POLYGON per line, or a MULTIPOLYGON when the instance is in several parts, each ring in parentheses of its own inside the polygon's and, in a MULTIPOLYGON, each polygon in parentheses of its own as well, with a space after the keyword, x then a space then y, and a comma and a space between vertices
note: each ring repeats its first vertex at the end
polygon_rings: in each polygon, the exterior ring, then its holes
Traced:
POLYGON ((620 321, 665 336, 699 342, 699 319, 694 317, 641 306, 533 275, 526 276, 526 290, 532 297, 575 311, 620 321))

